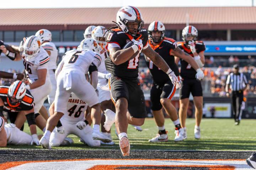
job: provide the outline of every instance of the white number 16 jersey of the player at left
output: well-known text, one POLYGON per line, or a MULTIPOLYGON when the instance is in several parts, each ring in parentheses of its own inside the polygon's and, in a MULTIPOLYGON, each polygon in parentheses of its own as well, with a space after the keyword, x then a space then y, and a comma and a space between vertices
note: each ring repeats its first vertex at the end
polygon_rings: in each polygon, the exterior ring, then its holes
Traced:
POLYGON ((39 69, 47 69, 46 80, 50 80, 50 76, 48 73, 48 62, 50 57, 48 53, 40 47, 40 51, 37 56, 34 58, 26 58, 23 57, 23 64, 25 66, 26 74, 29 76, 28 81, 33 83, 38 79, 37 70, 39 69))

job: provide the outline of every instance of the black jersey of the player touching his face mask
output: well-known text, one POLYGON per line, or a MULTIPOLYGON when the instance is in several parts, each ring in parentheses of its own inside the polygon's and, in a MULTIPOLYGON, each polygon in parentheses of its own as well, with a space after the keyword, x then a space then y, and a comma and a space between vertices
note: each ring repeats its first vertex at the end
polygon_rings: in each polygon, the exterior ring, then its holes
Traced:
MULTIPOLYGON (((178 47, 192 57, 194 57, 193 53, 191 52, 190 48, 187 48, 184 44, 184 42, 178 42, 178 47)), ((196 51, 197 53, 202 52, 205 50, 205 46, 203 41, 196 41, 196 51)), ((196 79, 196 70, 191 67, 190 64, 188 64, 185 60, 180 60, 181 62, 181 72, 180 75, 184 79, 196 79)))

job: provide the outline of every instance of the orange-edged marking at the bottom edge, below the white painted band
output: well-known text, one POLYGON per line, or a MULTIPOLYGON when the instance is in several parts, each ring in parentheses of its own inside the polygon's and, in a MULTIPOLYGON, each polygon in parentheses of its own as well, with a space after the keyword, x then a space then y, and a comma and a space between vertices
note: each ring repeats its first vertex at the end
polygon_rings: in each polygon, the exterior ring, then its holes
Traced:
POLYGON ((208 170, 234 170, 234 166, 228 165, 95 165, 88 170, 137 170, 136 167, 143 167, 146 170, 159 170, 162 169, 172 169, 172 170, 183 170, 185 168, 206 168, 208 170), (125 168, 127 167, 127 169, 125 168), (154 167, 156 169, 154 169, 154 167))

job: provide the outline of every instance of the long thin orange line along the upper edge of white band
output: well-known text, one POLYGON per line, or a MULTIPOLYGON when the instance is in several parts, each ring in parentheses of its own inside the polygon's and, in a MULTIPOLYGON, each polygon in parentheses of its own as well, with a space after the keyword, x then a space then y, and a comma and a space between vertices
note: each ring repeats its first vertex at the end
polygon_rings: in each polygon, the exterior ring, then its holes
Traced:
MULTIPOLYGON (((17 161, 17 162, 6 162, 0 164, 0 170, 5 170, 12 168, 14 166, 26 164, 26 163, 36 163, 36 162, 64 162, 64 161, 81 161, 81 160, 206 160, 206 161, 244 161, 244 159, 60 159, 60 160, 34 160, 34 161, 17 161)), ((220 169, 212 169, 220 170, 220 169)))

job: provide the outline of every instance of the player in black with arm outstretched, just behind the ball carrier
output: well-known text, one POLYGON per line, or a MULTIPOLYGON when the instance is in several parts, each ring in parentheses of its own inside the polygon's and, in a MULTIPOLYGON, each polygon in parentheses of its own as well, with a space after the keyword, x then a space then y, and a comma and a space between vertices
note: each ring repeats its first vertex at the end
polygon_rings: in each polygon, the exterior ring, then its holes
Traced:
MULTIPOLYGON (((165 26, 160 21, 154 21, 149 25, 149 45, 155 50, 168 64, 168 66, 174 71, 175 75, 178 77, 178 67, 175 63, 174 56, 182 58, 182 60, 187 61, 191 66, 197 70, 197 72, 202 72, 198 67, 197 63, 193 58, 187 53, 181 51, 177 47, 176 41, 171 38, 166 38, 164 36, 165 26)), ((158 126, 159 132, 156 137, 149 140, 149 142, 167 142, 168 136, 165 131, 164 126, 164 115, 162 113, 162 107, 164 107, 166 113, 170 116, 172 122, 175 125, 175 138, 174 141, 183 140, 183 128, 181 128, 180 120, 178 119, 177 110, 171 103, 171 99, 176 92, 175 86, 172 84, 170 78, 166 73, 159 69, 155 64, 147 58, 145 55, 146 63, 149 68, 150 74, 153 78, 153 85, 150 90, 150 100, 152 102, 152 111, 154 119, 158 126)), ((203 75, 203 74, 202 74, 203 75)), ((202 76, 203 78, 203 76, 202 76)), ((201 78, 200 78, 201 79, 201 78)))

